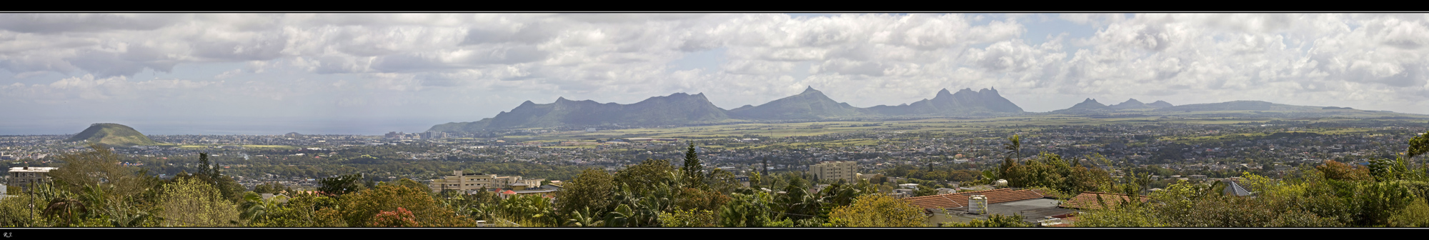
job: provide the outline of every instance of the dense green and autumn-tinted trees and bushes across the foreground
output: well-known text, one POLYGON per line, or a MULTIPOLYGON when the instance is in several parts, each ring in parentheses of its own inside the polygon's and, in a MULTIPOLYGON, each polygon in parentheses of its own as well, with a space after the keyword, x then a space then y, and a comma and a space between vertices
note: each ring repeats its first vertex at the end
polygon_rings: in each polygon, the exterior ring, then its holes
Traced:
MULTIPOLYGON (((1006 159, 976 180, 1007 180, 1067 197, 1082 191, 1140 196, 1149 201, 1099 199, 1077 214, 1077 227, 1429 227, 1429 173, 1410 164, 1429 140, 1413 137, 1395 159, 1355 167, 1338 161, 1300 166, 1302 174, 1272 179, 1242 173, 1250 196, 1226 194, 1228 181, 1173 181, 1149 190, 1147 169, 1109 173, 1099 156, 1022 156, 1009 139, 1006 159)), ((63 156, 53 181, 0 200, 9 227, 926 227, 925 210, 880 194, 869 180, 822 181, 805 174, 752 176, 742 186, 723 170, 703 170, 693 144, 684 164, 650 159, 617 173, 584 169, 553 196, 493 191, 432 193, 410 179, 376 183, 359 174, 320 180, 317 193, 264 184, 234 187, 217 167, 164 180, 117 164, 104 147, 63 156), (263 193, 273 193, 264 197, 263 193), (31 204, 33 203, 33 204, 31 204)), ((207 154, 196 156, 211 166, 207 154)), ((912 173, 916 169, 905 169, 912 173)), ((923 173, 955 170, 920 170, 923 173)), ((875 177, 879 180, 880 177, 875 177)), ((883 181, 883 180, 879 180, 883 181)), ((925 180, 926 181, 926 180, 925 180)), ((919 181, 919 183, 925 183, 919 181)), ((932 190, 923 187, 919 194, 932 190)), ((990 216, 952 227, 1036 227, 1023 216, 990 216)))

